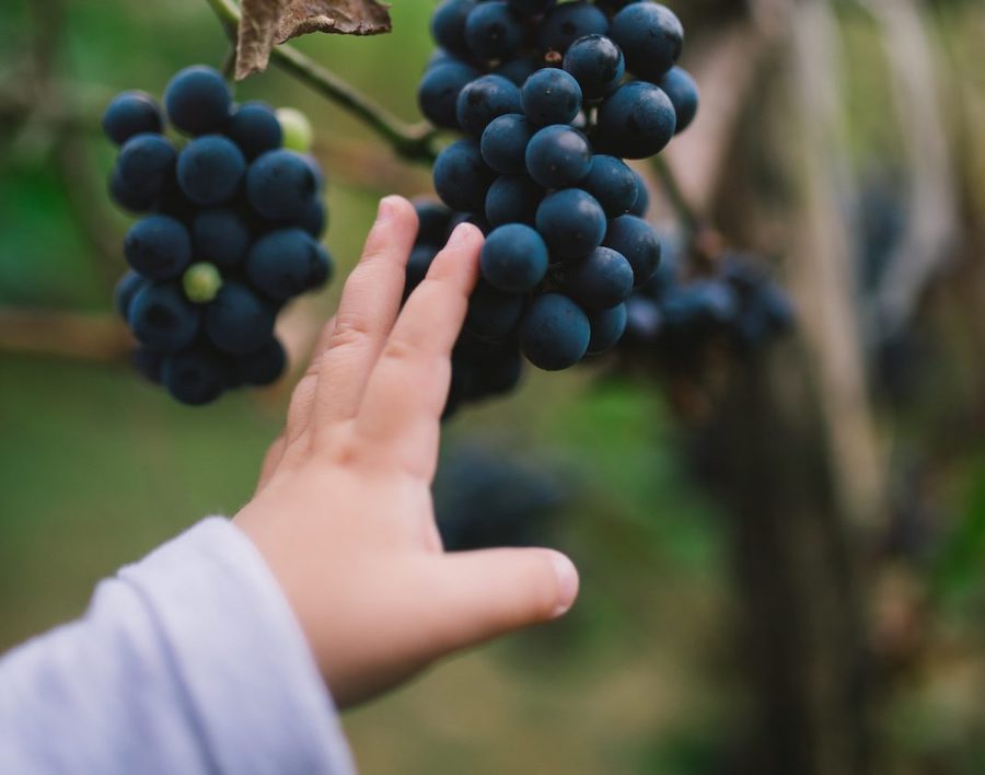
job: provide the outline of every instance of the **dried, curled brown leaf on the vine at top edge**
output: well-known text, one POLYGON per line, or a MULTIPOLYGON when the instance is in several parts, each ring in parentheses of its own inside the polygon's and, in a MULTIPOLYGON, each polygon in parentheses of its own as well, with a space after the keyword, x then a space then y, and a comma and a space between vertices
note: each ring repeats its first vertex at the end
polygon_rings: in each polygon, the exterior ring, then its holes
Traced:
POLYGON ((274 45, 299 35, 379 35, 390 31, 387 7, 376 0, 243 0, 236 80, 265 70, 274 45))

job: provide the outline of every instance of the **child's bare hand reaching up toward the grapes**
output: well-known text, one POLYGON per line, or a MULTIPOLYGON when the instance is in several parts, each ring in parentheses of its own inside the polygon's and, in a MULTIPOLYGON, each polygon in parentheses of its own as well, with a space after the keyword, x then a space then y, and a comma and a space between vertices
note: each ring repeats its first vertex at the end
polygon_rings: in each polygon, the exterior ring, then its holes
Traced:
POLYGON ((451 349, 483 238, 460 225, 399 310, 417 231, 387 197, 236 517, 274 570, 336 702, 565 613, 578 575, 549 550, 444 554, 431 502, 451 349))

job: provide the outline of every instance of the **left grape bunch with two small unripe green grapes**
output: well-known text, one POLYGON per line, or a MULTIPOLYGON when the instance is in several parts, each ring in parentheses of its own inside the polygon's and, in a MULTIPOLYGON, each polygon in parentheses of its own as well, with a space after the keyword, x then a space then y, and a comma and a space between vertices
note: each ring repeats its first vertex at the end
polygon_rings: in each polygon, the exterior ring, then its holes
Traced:
POLYGON ((140 215, 124 241, 130 270, 116 305, 140 344, 140 371, 199 405, 283 372, 277 315, 333 271, 320 243, 324 178, 303 152, 311 127, 301 114, 234 104, 211 68, 176 73, 164 108, 124 92, 103 118, 119 146, 111 194, 140 215))

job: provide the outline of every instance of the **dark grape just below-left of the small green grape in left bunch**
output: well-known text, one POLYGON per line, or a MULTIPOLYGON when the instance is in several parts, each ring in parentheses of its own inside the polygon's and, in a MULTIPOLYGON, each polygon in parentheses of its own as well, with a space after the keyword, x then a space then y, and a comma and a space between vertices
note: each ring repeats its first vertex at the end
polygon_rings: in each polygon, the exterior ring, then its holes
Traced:
POLYGON ((141 344, 174 352, 198 336, 201 315, 177 282, 149 282, 134 294, 127 322, 141 344))

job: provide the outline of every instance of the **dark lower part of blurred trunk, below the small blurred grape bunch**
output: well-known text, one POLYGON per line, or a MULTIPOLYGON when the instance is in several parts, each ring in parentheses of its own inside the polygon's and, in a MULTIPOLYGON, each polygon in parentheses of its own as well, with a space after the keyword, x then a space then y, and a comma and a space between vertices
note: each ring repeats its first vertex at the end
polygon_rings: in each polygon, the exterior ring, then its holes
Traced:
POLYGON ((732 519, 753 690, 741 773, 869 772, 860 594, 807 360, 791 346, 748 363, 703 438, 732 519))

